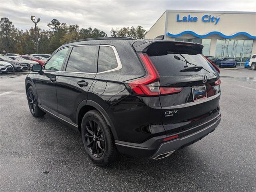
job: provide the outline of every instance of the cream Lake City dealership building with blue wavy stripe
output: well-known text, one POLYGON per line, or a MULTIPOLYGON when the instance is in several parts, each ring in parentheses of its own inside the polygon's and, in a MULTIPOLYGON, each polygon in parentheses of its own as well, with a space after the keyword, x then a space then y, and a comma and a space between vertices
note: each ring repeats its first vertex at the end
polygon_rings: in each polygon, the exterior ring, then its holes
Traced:
POLYGON ((200 43, 205 56, 234 57, 243 66, 256 54, 256 12, 166 10, 145 38, 200 43))

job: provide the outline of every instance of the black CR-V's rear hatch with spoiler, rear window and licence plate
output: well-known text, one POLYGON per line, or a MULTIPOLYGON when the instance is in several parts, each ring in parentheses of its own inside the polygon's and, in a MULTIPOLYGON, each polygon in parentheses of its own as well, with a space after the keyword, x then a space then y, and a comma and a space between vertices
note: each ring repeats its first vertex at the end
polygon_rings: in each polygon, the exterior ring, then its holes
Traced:
POLYGON ((218 115, 219 73, 202 56, 201 44, 152 41, 137 42, 134 48, 139 56, 148 56, 158 73, 158 96, 167 134, 176 134, 218 115))

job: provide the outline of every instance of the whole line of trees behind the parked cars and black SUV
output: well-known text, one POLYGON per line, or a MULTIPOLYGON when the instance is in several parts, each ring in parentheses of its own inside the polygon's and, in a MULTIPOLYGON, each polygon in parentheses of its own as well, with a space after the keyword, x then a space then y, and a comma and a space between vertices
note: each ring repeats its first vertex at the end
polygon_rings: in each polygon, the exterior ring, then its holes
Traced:
MULTIPOLYGON (((63 43, 86 38, 107 37, 107 34, 97 28, 80 28, 79 25, 67 25, 57 19, 47 24, 49 30, 41 30, 37 26, 38 51, 52 54, 63 43)), ((146 30, 142 26, 111 29, 112 37, 132 37, 142 39, 146 30)), ((32 54, 36 52, 35 29, 18 30, 8 18, 0 20, 0 53, 32 54)))

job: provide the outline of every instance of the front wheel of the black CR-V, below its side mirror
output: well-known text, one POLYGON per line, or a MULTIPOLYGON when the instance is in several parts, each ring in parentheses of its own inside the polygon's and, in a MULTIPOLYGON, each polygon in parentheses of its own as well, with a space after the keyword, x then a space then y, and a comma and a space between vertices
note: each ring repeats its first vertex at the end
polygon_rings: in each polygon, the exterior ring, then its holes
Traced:
POLYGON ((45 112, 38 107, 38 100, 33 88, 30 86, 27 91, 28 107, 34 117, 42 117, 45 112))

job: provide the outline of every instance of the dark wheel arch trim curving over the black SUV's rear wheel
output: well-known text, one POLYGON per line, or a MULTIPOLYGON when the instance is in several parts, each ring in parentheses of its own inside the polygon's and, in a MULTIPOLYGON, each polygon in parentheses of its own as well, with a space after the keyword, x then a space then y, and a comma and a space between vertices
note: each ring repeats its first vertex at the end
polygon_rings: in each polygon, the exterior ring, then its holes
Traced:
POLYGON ((84 116, 84 114, 86 112, 88 112, 89 110, 93 110, 93 109, 98 110, 102 114, 102 116, 106 120, 106 123, 108 124, 108 126, 110 126, 110 129, 112 131, 114 139, 118 140, 116 129, 114 128, 114 124, 112 123, 107 112, 102 108, 102 106, 100 106, 98 103, 96 103, 92 100, 84 100, 84 101, 80 102, 80 104, 78 105, 78 108, 76 110, 76 124, 78 124, 78 130, 81 132, 80 124, 81 124, 82 117, 84 116))

